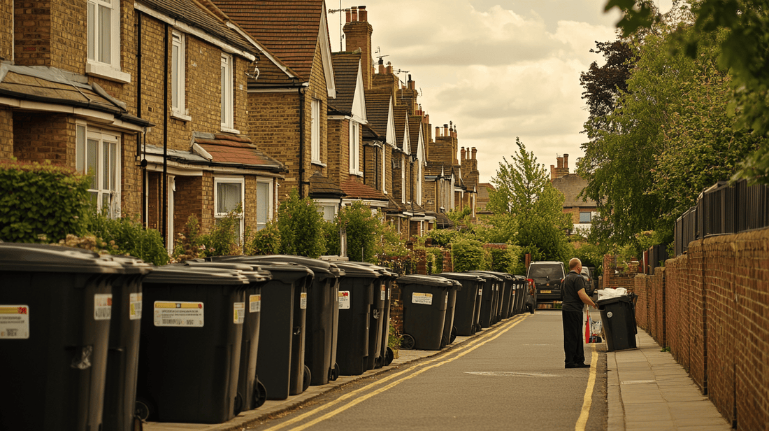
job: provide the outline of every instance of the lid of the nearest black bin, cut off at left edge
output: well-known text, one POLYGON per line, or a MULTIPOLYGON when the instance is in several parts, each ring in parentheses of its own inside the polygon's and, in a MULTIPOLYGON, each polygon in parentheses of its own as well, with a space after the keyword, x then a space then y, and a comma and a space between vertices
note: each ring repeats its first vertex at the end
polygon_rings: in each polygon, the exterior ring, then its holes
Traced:
POLYGON ((0 271, 125 274, 125 267, 85 249, 3 242, 0 244, 0 271))

